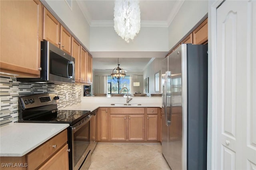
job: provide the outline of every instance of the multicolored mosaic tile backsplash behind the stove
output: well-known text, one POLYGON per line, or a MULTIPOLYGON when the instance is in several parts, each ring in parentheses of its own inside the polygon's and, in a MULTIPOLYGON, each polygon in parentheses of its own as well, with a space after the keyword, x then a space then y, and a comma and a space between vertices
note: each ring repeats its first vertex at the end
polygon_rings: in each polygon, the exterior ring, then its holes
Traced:
POLYGON ((39 93, 58 94, 58 108, 63 108, 81 103, 82 88, 77 84, 21 83, 14 77, 0 76, 0 127, 18 121, 18 96, 39 93))

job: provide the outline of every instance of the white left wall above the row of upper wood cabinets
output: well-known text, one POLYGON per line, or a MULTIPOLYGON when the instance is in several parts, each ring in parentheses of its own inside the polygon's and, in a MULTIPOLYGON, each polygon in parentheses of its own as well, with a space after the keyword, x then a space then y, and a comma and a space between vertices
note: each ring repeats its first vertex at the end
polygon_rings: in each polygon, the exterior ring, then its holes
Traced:
POLYGON ((72 10, 70 10, 64 0, 42 0, 41 2, 57 20, 61 20, 59 21, 62 25, 67 26, 65 28, 69 32, 72 32, 86 49, 90 49, 90 25, 86 21, 76 1, 71 1, 72 10))

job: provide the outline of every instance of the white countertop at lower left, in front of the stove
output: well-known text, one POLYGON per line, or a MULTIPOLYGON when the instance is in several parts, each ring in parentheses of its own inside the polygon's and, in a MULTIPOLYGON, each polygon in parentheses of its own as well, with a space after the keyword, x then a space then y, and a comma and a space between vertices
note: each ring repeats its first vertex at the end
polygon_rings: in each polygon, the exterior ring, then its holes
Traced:
POLYGON ((0 156, 24 156, 69 124, 12 123, 0 128, 0 156))

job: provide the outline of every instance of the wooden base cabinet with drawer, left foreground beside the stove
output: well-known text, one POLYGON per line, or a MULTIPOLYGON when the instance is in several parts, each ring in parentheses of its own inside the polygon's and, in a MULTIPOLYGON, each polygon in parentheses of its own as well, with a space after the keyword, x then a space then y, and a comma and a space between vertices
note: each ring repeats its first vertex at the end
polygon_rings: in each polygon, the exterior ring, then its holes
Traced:
POLYGON ((36 149, 21 157, 0 157, 5 163, 20 164, 22 167, 1 167, 1 170, 68 170, 68 133, 65 129, 36 149))

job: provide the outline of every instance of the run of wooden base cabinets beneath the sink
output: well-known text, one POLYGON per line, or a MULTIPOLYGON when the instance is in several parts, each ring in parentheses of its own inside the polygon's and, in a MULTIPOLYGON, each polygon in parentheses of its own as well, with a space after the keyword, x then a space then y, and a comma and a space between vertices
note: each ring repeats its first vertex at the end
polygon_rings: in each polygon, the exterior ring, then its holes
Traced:
POLYGON ((98 109, 98 141, 160 141, 160 108, 98 109))

